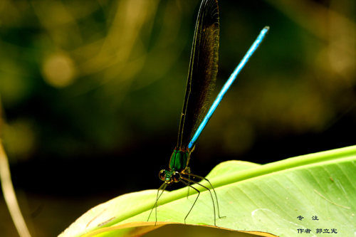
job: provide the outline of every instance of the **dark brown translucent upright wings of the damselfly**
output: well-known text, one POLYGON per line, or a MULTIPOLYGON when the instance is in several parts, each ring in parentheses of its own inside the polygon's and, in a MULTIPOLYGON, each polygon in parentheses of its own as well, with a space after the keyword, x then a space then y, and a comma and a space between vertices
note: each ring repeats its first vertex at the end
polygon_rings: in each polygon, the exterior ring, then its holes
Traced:
POLYGON ((209 105, 215 87, 219 51, 219 9, 216 0, 203 0, 195 26, 187 89, 177 147, 187 148, 209 105))

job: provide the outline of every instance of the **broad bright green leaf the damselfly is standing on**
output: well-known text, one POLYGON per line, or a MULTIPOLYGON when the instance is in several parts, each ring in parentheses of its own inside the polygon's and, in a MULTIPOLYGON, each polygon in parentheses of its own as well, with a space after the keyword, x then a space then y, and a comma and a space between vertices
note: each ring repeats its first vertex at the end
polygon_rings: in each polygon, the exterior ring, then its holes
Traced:
MULTIPOLYGON (((308 236, 321 236, 335 229, 338 236, 355 236, 356 146, 264 165, 223 162, 207 178, 218 195, 220 213, 226 216, 216 218, 217 228, 261 236, 300 236, 298 229, 310 229, 308 236), (313 220, 315 216, 318 220, 313 220)), ((194 187, 201 194, 187 224, 216 227, 209 191, 194 187)), ((165 191, 159 199, 156 226, 155 210, 150 221, 147 218, 157 190, 147 190, 95 206, 60 237, 141 236, 165 224, 184 224, 197 198, 192 190, 189 199, 187 188, 165 191)))

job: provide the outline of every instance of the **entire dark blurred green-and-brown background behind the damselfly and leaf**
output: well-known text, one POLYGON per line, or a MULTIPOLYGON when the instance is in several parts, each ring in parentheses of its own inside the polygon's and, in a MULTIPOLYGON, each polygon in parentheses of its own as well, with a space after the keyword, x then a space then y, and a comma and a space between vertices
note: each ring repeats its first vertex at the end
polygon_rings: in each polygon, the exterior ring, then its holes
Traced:
MULTIPOLYGON (((160 186, 200 2, 0 1, 1 139, 33 236, 160 186)), ((213 98, 271 30, 201 135, 192 172, 356 143, 355 9, 354 0, 220 0, 213 98)), ((18 236, 2 195, 0 220, 1 236, 18 236)))

